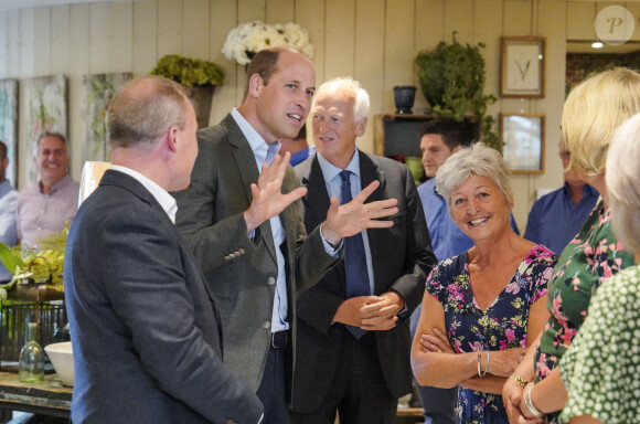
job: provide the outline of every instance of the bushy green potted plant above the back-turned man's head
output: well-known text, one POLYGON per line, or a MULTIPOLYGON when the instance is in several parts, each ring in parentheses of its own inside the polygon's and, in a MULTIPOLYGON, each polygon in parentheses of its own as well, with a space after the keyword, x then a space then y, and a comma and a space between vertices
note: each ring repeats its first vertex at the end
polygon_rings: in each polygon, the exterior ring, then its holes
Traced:
POLYGON ((163 76, 188 87, 188 97, 195 109, 198 127, 209 126, 214 88, 224 84, 224 73, 218 65, 200 59, 168 54, 158 61, 150 75, 163 76))

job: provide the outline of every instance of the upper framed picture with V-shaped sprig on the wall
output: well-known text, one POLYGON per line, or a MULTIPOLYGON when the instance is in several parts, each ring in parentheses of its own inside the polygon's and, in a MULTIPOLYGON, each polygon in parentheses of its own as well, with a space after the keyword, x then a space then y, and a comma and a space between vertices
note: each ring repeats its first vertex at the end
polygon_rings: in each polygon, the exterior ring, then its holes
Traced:
POLYGON ((503 36, 501 97, 544 97, 544 36, 503 36))

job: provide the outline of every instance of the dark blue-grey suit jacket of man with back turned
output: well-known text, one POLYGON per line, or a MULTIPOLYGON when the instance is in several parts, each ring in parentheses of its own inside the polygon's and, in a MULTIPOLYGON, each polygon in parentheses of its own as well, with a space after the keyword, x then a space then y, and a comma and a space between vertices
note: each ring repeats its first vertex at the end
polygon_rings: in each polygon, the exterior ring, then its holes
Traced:
POLYGON ((204 277, 156 199, 105 173, 71 227, 64 286, 74 423, 252 423, 260 401, 223 364, 204 277))

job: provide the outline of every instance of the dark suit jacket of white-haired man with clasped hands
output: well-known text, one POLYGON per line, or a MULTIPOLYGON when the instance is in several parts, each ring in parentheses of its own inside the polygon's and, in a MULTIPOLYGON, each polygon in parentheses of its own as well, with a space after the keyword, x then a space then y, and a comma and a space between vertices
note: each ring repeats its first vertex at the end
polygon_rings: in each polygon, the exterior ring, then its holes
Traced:
MULTIPOLYGON (((394 160, 359 151, 362 187, 380 187, 367 202, 395 198, 398 213, 391 229, 367 230, 373 263, 374 295, 397 292, 408 314, 388 331, 375 331, 377 354, 388 390, 397 398, 412 391, 408 315, 422 301, 426 277, 436 265, 418 193, 408 168, 394 160)), ((316 156, 296 167, 302 187, 302 218, 308 231, 326 219, 329 193, 316 156)), ((292 409, 311 413, 320 407, 341 361, 342 325, 332 324, 345 300, 344 264, 340 263, 298 298, 298 365, 292 409)), ((372 390, 384 388, 372 388, 372 390)))

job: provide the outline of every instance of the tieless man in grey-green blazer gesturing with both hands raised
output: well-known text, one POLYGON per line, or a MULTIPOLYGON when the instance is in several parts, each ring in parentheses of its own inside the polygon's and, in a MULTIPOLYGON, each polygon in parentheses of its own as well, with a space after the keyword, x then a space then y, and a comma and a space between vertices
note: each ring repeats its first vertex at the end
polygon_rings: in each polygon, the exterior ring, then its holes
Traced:
POLYGON ((307 237, 297 205, 306 189, 289 155, 276 153, 278 139, 296 137, 305 123, 316 71, 302 53, 275 47, 256 54, 247 76, 242 105, 198 131, 191 184, 174 194, 177 223, 221 308, 225 363, 256 390, 265 423, 284 424, 296 367, 297 294, 335 265, 343 237, 391 226, 377 219, 397 209, 393 199, 363 204, 374 183, 349 205, 333 202, 307 237))

